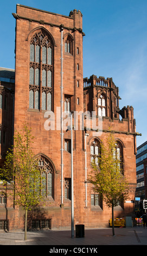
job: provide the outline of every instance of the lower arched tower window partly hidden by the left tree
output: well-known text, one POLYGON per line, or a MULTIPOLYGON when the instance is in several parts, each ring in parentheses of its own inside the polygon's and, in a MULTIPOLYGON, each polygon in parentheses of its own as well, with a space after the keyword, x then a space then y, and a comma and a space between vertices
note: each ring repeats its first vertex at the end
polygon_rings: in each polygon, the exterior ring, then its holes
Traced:
POLYGON ((53 197, 53 168, 50 162, 43 156, 38 157, 39 169, 41 171, 42 186, 41 193, 46 197, 53 197))

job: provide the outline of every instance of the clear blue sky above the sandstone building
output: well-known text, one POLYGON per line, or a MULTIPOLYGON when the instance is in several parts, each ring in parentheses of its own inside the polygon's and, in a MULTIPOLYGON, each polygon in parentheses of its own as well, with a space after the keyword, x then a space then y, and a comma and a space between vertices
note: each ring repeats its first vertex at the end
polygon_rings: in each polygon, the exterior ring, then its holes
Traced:
POLYGON ((83 15, 84 77, 112 77, 119 87, 120 108, 133 106, 137 147, 147 141, 147 1, 146 0, 1 0, 0 66, 15 68, 16 4, 53 13, 83 15))

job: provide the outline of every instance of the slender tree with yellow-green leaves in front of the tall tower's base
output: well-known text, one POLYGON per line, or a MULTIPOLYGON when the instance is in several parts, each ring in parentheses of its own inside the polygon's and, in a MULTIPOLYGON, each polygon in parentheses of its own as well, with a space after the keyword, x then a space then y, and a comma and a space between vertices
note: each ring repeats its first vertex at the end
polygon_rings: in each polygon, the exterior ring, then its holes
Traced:
POLYGON ((28 210, 43 200, 41 193, 43 178, 37 159, 31 150, 33 139, 31 129, 27 124, 24 124, 23 130, 20 132, 15 132, 14 146, 8 150, 0 173, 2 180, 10 181, 12 184, 15 204, 21 206, 25 211, 24 240, 27 240, 28 210))

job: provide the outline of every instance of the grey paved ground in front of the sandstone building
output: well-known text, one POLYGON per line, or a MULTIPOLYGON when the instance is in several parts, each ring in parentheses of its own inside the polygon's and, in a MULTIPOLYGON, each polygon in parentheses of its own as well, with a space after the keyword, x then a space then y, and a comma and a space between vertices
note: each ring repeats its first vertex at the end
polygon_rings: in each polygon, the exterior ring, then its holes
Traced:
MULTIPOLYGON (((90 253, 88 247, 97 248, 95 252, 98 253, 99 246, 105 245, 147 245, 147 228, 140 227, 126 227, 114 228, 115 236, 112 235, 112 228, 99 229, 85 229, 84 237, 71 237, 71 230, 40 230, 28 231, 27 240, 24 241, 23 231, 0 231, 0 245, 49 245, 48 252, 52 253, 54 248, 72 248, 74 253, 81 253, 76 251, 77 248, 85 248, 82 253, 90 253), (78 247, 77 247, 78 246, 78 247), (86 249, 87 248, 87 249, 86 249), (86 251, 87 250, 87 251, 86 251)), ((7 247, 9 248, 9 247, 7 247)), ((17 247, 18 248, 18 247, 17 247)), ((26 248, 26 247, 25 247, 26 248)), ((35 247, 36 248, 36 247, 35 247)), ((80 249, 79 249, 80 250, 80 249)), ((58 251, 54 251, 57 253, 58 251)), ((63 253, 64 251, 61 251, 63 253)), ((70 251, 71 252, 71 251, 70 251)), ((63 254, 67 254, 66 251, 63 254)), ((69 255, 69 254, 67 254, 69 255)))

